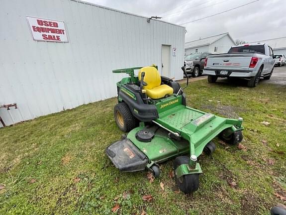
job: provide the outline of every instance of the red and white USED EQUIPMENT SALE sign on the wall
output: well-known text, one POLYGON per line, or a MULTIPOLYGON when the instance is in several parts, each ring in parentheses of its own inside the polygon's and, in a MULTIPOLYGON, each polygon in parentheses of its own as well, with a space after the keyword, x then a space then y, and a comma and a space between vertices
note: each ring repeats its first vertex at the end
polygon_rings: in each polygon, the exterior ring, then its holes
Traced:
POLYGON ((34 40, 47 42, 68 42, 63 21, 27 16, 34 40))

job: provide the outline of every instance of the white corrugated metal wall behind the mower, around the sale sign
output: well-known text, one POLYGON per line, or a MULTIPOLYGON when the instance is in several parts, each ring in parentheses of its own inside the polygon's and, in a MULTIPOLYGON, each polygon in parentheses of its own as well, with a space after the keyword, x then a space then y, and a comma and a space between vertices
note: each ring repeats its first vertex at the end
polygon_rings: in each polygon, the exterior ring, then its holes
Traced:
POLYGON ((0 29, 0 105, 18 105, 0 108, 6 125, 116 96, 123 75, 111 70, 161 65, 162 44, 177 48, 170 76, 183 78, 181 26, 74 0, 8 0, 0 29), (26 16, 64 21, 69 42, 34 41, 26 16))

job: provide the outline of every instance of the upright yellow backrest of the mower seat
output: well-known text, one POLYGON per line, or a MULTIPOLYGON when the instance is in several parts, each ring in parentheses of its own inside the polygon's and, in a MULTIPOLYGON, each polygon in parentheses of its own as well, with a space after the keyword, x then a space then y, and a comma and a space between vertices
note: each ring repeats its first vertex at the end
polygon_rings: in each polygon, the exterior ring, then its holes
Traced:
POLYGON ((145 72, 144 82, 147 86, 143 89, 152 89, 161 85, 161 76, 155 67, 143 67, 139 70, 138 79, 141 81, 141 73, 145 72))

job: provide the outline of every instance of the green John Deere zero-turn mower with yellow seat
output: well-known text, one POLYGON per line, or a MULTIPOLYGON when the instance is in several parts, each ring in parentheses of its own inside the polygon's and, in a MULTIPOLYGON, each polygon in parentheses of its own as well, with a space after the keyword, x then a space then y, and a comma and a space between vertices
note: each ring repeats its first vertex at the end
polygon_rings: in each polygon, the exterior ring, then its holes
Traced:
POLYGON ((242 141, 242 118, 223 118, 186 106, 179 83, 160 76, 155 65, 112 72, 129 75, 117 83, 118 104, 114 107, 117 126, 129 133, 106 148, 120 171, 147 168, 156 178, 158 164, 176 158, 176 182, 181 191, 191 193, 198 189, 202 173, 197 157, 202 151, 210 154, 215 150, 211 140, 218 136, 229 144, 242 141), (138 77, 134 70, 139 70, 138 77))

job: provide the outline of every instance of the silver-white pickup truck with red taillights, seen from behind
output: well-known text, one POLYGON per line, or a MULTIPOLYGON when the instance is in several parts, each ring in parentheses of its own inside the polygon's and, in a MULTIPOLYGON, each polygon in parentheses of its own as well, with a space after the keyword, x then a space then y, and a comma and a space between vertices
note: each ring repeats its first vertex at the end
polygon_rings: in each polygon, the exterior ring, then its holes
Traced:
POLYGON ((204 75, 209 83, 221 78, 243 78, 248 87, 255 87, 260 78, 269 80, 275 64, 273 50, 267 44, 253 43, 232 46, 227 54, 208 55, 204 75))

